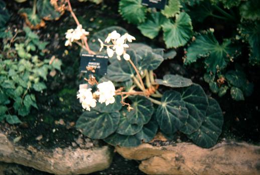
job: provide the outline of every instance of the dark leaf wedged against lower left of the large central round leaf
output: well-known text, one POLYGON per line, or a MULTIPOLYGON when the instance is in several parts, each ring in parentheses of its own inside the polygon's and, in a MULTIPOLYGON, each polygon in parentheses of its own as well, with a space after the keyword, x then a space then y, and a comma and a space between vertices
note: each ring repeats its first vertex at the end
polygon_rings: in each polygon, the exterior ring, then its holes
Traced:
POLYGON ((158 130, 158 123, 156 121, 155 114, 152 116, 152 119, 143 126, 143 129, 141 129, 140 132, 136 134, 136 137, 144 142, 151 141, 158 130))

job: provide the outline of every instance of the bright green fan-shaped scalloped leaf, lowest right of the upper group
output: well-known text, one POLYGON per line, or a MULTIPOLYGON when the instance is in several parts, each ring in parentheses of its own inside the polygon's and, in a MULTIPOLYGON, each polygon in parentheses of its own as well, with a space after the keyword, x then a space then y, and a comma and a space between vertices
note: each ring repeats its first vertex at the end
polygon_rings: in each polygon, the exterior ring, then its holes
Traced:
POLYGON ((164 41, 167 48, 184 46, 192 37, 192 24, 190 16, 184 12, 176 15, 175 23, 170 20, 163 25, 164 41))

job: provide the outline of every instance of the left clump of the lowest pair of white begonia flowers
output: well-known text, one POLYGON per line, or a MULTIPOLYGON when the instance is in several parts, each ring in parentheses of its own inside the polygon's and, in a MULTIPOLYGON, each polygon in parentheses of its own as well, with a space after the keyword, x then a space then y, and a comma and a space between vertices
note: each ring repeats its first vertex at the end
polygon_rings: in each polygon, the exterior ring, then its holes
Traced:
POLYGON ((77 98, 79 98, 83 109, 90 111, 90 107, 96 106, 96 100, 93 98, 92 89, 80 89, 77 98))

